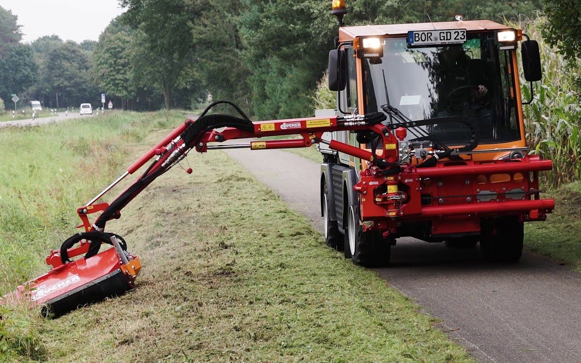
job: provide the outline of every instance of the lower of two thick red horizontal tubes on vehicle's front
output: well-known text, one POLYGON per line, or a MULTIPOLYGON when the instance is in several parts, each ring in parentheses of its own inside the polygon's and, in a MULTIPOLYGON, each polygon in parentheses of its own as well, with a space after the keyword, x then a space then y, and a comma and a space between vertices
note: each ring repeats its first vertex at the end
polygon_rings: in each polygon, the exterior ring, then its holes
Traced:
POLYGON ((438 217, 439 215, 512 213, 535 209, 551 210, 555 208, 553 199, 513 200, 511 202, 485 202, 478 204, 454 204, 451 206, 422 207, 422 216, 438 217))

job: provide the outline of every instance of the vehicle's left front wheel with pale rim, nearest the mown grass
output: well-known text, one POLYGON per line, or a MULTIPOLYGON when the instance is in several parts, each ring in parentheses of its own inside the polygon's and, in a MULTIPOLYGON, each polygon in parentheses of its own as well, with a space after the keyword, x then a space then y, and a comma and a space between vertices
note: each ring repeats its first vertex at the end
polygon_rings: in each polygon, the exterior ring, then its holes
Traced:
POLYGON ((356 265, 383 267, 389 264, 391 247, 391 243, 383 239, 381 232, 364 232, 359 223, 358 207, 349 208, 347 211, 347 228, 345 229, 346 257, 349 254, 356 265))

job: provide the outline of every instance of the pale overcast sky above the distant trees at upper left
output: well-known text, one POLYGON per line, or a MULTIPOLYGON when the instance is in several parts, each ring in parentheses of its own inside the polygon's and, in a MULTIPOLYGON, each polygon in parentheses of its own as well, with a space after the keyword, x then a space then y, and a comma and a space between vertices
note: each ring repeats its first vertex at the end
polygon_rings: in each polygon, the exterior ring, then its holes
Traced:
POLYGON ((110 21, 123 13, 118 0, 0 0, 0 6, 18 16, 24 42, 52 34, 64 41, 98 40, 110 21))

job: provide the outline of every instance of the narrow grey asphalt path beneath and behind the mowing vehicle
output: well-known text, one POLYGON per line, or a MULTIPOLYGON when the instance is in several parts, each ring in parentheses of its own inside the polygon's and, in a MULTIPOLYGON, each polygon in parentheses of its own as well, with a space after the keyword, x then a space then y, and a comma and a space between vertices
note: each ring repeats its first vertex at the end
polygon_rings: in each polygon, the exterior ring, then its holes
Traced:
MULTIPOLYGON (((257 179, 322 231, 320 166, 280 150, 228 150, 257 179)), ((523 254, 515 265, 485 264, 478 248, 400 239, 392 266, 376 269, 481 362, 581 362, 581 275, 523 254)))

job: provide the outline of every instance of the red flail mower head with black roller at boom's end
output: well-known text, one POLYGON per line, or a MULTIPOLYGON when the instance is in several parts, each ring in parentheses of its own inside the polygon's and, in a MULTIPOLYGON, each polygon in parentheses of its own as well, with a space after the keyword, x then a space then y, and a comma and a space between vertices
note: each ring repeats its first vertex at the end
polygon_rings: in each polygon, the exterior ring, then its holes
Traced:
POLYGON ((5 300, 29 300, 43 315, 59 316, 80 306, 119 296, 134 287, 141 269, 137 256, 127 252, 125 241, 113 233, 91 231, 67 239, 60 250, 46 257, 52 269, 17 288, 5 300), (74 249, 71 247, 80 242, 74 249), (99 253, 102 242, 113 247, 99 253), (79 256, 70 261, 69 256, 79 256))

